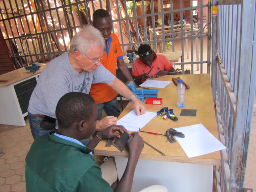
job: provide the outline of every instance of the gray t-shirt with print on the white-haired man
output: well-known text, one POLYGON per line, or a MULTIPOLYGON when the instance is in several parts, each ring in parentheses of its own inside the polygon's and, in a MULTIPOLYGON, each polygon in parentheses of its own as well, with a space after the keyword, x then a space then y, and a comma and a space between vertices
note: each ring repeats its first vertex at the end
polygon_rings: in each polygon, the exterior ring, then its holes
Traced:
POLYGON ((68 92, 89 94, 92 83, 109 84, 115 76, 98 66, 94 71, 76 72, 68 59, 68 53, 58 56, 42 70, 38 82, 30 97, 28 112, 43 114, 53 118, 58 100, 68 92))

